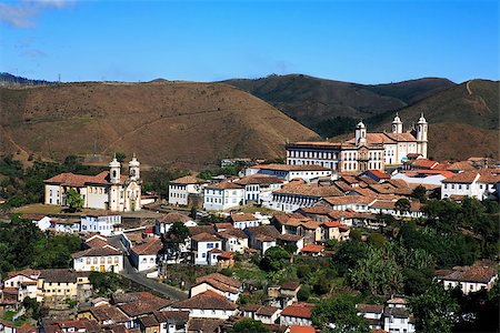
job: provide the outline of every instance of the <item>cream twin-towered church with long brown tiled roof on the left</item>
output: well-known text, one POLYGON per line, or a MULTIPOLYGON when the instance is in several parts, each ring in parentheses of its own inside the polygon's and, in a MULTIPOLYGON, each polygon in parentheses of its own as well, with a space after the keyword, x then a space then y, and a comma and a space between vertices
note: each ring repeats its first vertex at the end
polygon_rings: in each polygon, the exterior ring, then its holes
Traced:
POLYGON ((141 209, 140 163, 133 155, 129 175, 121 174, 121 163, 114 157, 109 171, 97 175, 61 173, 44 181, 44 203, 67 205, 66 193, 73 189, 83 199, 83 208, 131 212, 141 209))

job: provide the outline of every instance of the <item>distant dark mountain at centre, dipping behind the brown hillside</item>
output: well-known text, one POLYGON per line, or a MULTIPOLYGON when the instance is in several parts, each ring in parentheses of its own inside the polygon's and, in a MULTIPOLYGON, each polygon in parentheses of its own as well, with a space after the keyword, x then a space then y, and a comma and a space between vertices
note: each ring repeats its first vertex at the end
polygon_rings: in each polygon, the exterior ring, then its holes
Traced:
POLYGON ((328 138, 350 132, 359 119, 393 112, 454 85, 438 78, 363 85, 302 74, 223 82, 250 92, 328 138))

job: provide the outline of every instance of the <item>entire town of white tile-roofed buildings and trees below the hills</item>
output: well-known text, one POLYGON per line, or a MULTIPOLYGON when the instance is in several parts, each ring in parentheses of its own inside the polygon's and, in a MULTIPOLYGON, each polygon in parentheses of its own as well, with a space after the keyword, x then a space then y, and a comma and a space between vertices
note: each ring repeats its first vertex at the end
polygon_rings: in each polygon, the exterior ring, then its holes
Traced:
POLYGON ((430 159, 431 125, 360 121, 164 191, 140 152, 2 157, 0 332, 494 331, 500 163, 430 159))

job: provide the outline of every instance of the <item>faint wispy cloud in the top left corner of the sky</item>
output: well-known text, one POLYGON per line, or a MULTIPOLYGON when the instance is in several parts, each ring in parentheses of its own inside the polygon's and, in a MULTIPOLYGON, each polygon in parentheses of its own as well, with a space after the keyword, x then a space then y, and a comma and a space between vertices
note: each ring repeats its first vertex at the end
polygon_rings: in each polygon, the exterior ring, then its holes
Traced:
POLYGON ((19 0, 17 3, 0 3, 0 22, 16 28, 36 27, 36 18, 47 8, 61 9, 73 3, 73 0, 19 0))

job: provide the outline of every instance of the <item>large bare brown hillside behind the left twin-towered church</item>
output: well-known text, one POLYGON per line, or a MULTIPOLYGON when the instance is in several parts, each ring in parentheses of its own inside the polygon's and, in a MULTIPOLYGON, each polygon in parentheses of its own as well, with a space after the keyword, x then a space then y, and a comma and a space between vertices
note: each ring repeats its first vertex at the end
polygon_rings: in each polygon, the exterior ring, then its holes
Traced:
POLYGON ((137 152, 151 165, 274 158, 318 135, 268 103, 218 83, 67 83, 0 89, 0 152, 44 158, 137 152))

